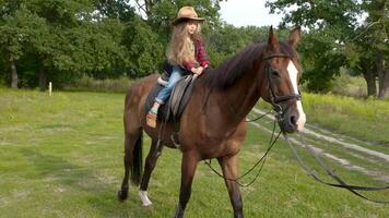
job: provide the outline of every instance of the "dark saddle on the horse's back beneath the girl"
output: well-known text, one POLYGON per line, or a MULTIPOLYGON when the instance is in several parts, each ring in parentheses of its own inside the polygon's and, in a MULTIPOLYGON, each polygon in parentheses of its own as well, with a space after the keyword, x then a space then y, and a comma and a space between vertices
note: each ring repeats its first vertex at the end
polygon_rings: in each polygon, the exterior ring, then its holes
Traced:
MULTIPOLYGON (((197 75, 187 74, 182 78, 180 78, 176 85, 174 86, 170 97, 166 100, 166 104, 162 105, 158 109, 157 120, 165 122, 178 122, 181 117, 184 109, 186 108, 194 81, 197 75)), ((144 110, 148 113, 151 107, 154 104, 155 97, 158 95, 160 90, 164 88, 167 84, 168 74, 163 73, 158 77, 158 82, 151 89, 146 102, 144 106, 144 110)))

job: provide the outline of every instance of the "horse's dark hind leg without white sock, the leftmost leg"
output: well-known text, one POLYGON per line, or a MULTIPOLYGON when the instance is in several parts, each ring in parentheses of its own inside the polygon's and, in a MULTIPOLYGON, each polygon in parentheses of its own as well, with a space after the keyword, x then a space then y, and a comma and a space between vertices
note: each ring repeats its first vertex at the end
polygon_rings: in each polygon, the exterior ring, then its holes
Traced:
MULTIPOLYGON (((142 143, 142 130, 141 129, 139 129, 134 133, 126 133, 125 158, 123 158, 123 161, 125 161, 125 178, 122 179, 121 189, 118 192, 119 201, 125 201, 128 197, 129 175, 130 175, 130 171, 133 170, 133 168, 134 168, 134 166, 133 166, 134 165, 134 158, 135 158, 134 157, 134 148, 137 146, 141 146, 141 143, 142 143)), ((137 149, 139 149, 139 147, 137 149)), ((142 149, 142 148, 140 147, 140 149, 142 149)), ((140 157, 138 157, 138 158, 142 158, 141 154, 140 154, 140 157)), ((139 168, 139 167, 137 166, 137 168, 139 168)))

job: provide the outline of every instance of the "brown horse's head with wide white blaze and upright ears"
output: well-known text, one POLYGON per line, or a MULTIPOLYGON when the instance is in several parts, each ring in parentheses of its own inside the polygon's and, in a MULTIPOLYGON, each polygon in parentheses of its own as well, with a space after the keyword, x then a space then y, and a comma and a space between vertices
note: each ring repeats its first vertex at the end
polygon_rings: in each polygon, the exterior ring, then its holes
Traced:
POLYGON ((295 28, 287 43, 280 43, 271 27, 263 57, 266 80, 262 98, 274 107, 279 125, 287 133, 302 131, 306 121, 297 87, 302 74, 295 50, 299 36, 300 29, 295 28))

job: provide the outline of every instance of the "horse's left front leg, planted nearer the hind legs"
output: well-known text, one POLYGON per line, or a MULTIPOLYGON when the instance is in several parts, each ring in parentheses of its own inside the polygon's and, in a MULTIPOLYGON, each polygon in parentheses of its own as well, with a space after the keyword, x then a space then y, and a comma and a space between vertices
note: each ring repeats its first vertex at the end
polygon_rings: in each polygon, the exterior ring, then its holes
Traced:
POLYGON ((184 217, 184 211, 191 194, 192 181, 199 158, 197 154, 184 153, 181 160, 181 186, 175 217, 184 217))

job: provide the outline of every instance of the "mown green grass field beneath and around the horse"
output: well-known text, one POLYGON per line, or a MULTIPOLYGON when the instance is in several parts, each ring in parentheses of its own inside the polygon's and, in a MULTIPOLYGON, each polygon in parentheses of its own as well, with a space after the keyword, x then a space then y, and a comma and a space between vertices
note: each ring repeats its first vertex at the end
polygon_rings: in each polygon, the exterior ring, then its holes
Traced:
MULTIPOLYGON (((158 160, 149 190, 151 207, 141 206, 133 186, 128 201, 116 198, 123 174, 123 97, 80 92, 48 97, 32 90, 0 89, 0 217, 172 217, 180 178, 177 150, 164 149, 158 160)), ((307 97, 304 104, 310 102, 307 97)), ((261 157, 268 140, 268 134, 249 125, 240 171, 261 157)), ((144 152, 149 142, 145 137, 144 152)), ((339 172, 351 183, 375 183, 354 171, 339 168, 339 172)), ((261 177, 241 193, 246 217, 389 217, 389 206, 316 183, 282 141, 261 177)), ((186 217, 232 217, 223 180, 203 164, 194 178, 186 217)))

